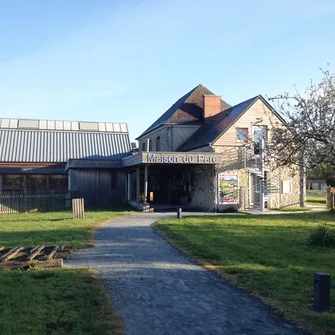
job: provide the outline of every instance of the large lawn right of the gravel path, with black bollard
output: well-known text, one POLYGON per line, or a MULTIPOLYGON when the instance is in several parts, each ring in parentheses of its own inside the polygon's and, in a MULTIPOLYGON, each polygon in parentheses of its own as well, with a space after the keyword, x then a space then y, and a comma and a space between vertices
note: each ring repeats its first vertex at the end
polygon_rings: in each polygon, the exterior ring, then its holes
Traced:
POLYGON ((335 307, 335 249, 311 247, 306 238, 318 223, 335 224, 335 214, 202 216, 168 219, 154 227, 189 256, 248 293, 278 308, 314 333, 335 334, 335 313, 314 313, 313 274, 331 275, 335 307))

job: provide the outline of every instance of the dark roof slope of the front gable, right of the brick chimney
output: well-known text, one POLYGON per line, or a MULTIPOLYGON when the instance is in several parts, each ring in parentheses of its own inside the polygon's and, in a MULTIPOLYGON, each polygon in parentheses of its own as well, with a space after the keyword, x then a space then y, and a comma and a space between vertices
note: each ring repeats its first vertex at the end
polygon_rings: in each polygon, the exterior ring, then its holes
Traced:
POLYGON ((258 95, 208 118, 205 123, 178 149, 178 151, 188 151, 215 142, 258 99, 262 99, 268 105, 266 100, 261 95, 258 95))

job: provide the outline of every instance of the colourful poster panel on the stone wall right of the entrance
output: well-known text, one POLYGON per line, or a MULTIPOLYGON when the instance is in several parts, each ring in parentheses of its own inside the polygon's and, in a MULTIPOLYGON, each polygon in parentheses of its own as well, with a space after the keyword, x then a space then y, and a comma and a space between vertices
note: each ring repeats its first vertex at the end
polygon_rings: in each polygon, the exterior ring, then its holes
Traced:
POLYGON ((238 175, 223 174, 218 175, 218 204, 229 205, 238 204, 238 175))

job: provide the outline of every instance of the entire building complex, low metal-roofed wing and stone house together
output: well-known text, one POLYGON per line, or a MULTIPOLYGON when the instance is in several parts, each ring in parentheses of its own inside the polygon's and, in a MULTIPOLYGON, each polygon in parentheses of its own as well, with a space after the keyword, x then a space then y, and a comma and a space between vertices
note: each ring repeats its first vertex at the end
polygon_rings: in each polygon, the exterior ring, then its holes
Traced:
POLYGON ((146 129, 137 150, 125 123, 0 119, 0 194, 65 192, 145 210, 297 205, 298 169, 264 163, 278 123, 262 96, 230 106, 202 85, 146 129))

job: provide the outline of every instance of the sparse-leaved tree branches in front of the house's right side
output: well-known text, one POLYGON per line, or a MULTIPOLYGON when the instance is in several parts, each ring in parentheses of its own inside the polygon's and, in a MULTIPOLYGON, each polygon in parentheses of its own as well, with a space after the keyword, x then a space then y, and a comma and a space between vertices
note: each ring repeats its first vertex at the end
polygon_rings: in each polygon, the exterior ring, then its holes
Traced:
POLYGON ((267 155, 279 166, 301 165, 306 169, 335 167, 335 74, 323 71, 322 80, 303 92, 279 95, 276 110, 285 120, 273 124, 267 155))

